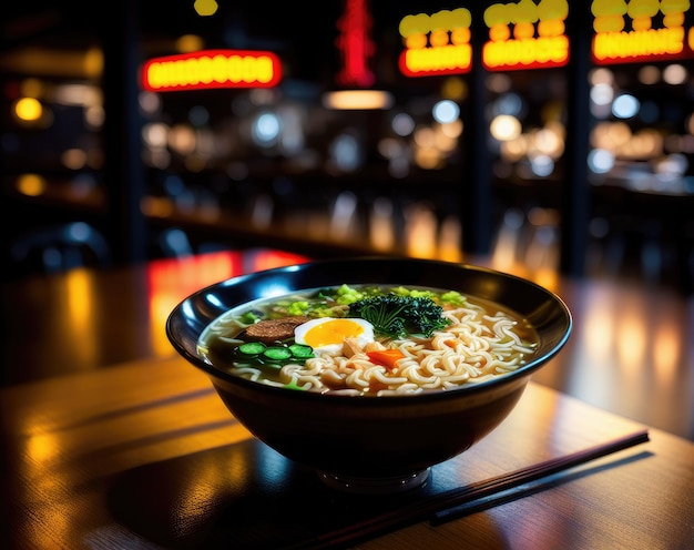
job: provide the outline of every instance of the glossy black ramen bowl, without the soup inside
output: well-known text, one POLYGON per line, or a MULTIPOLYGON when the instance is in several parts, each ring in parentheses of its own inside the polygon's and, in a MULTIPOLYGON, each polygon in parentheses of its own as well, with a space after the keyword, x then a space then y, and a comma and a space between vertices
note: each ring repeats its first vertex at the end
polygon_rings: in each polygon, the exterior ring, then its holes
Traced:
POLYGON ((562 299, 533 282, 486 267, 415 258, 358 257, 262 271, 202 288, 170 314, 175 350, 205 373, 231 414, 284 457, 314 469, 330 487, 390 493, 426 482, 497 428, 533 373, 571 333, 562 299), (534 328, 537 347, 503 376, 412 395, 347 396, 276 387, 232 374, 204 358, 198 339, 217 317, 244 304, 298 291, 347 285, 451 289, 516 312, 534 328))

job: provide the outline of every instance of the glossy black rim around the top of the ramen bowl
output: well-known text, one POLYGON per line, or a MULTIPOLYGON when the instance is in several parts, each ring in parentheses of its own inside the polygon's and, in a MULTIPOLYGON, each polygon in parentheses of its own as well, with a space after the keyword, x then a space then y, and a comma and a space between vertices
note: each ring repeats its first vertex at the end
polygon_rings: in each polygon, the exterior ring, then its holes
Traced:
MULTIPOLYGON (((349 284, 348 281, 346 281, 346 283, 349 284)), ((359 284, 368 284, 368 283, 359 283, 359 284)), ((432 286, 436 286, 436 285, 432 285, 432 286)), ((296 287, 296 288, 288 289, 287 293, 302 291, 302 289, 303 288, 300 287, 296 287)), ((256 298, 251 298, 251 299, 256 299, 256 298)), ((238 304, 234 306, 228 306, 226 310, 231 309, 232 307, 242 305, 246 302, 249 302, 249 301, 239 302, 238 304)), ((214 318, 216 317, 212 317, 208 320, 208 323, 212 322, 214 318)), ((204 326, 203 326, 203 329, 204 329, 204 326)), ((266 395, 275 395, 275 396, 292 395, 293 397, 298 398, 298 399, 306 399, 306 400, 319 399, 320 403, 326 403, 329 399, 330 401, 349 401, 354 404, 359 403, 359 404, 365 404, 365 405, 368 404, 368 405, 376 405, 376 406, 385 406, 386 404, 392 405, 394 403, 400 401, 400 400, 406 400, 407 403, 411 403, 411 404, 415 404, 415 403, 421 404, 421 403, 426 403, 430 400, 440 401, 440 400, 446 400, 446 399, 455 399, 455 398, 458 398, 460 394, 465 394, 465 395, 479 394, 479 393, 489 390, 490 387, 501 389, 510 385, 516 385, 519 380, 525 379, 524 381, 528 381, 530 376, 535 370, 538 370, 547 361, 549 361, 557 354, 559 354, 559 352, 564 347, 564 345, 569 340, 569 337, 571 336, 572 330, 573 330, 573 318, 565 302, 554 292, 541 286, 540 284, 533 281, 521 277, 519 275, 504 273, 494 268, 476 265, 476 264, 461 263, 461 262, 448 262, 448 261, 430 259, 430 258, 414 258, 414 257, 407 257, 407 256, 396 256, 396 257, 392 257, 392 256, 355 256, 355 257, 346 257, 346 258, 343 257, 338 259, 335 259, 335 258, 313 259, 313 261, 307 261, 304 263, 285 265, 285 266, 279 266, 279 267, 272 267, 267 269, 256 271, 253 273, 236 275, 227 279, 223 279, 217 283, 206 285, 193 292, 188 296, 184 297, 171 310, 166 319, 166 324, 165 324, 166 336, 171 345, 174 347, 174 349, 183 358, 185 358, 188 363, 191 363, 194 367, 204 371, 213 381, 213 385, 231 384, 233 386, 248 388, 253 391, 261 391, 266 395), (560 317, 562 317, 563 325, 564 325, 563 335, 554 344, 554 346, 548 349, 544 354, 532 358, 529 363, 527 363, 525 365, 522 365, 517 370, 507 373, 503 376, 496 377, 496 378, 480 381, 480 383, 470 384, 470 385, 462 385, 460 387, 441 390, 441 391, 426 391, 421 394, 407 394, 407 395, 387 395, 387 396, 378 396, 378 398, 371 398, 370 396, 354 396, 354 395, 350 396, 350 395, 339 395, 339 394, 337 395, 336 394, 320 394, 317 391, 298 391, 296 389, 287 389, 284 387, 269 386, 265 384, 259 384, 257 381, 248 380, 246 378, 242 378, 231 373, 227 373, 225 370, 222 370, 221 368, 211 365, 208 361, 205 361, 200 355, 192 353, 187 347, 185 347, 181 342, 178 342, 178 339, 175 336, 174 324, 176 322, 181 322, 181 318, 184 317, 183 310, 186 307, 190 307, 190 304, 192 302, 194 302, 195 299, 198 299, 203 295, 210 294, 211 291, 214 291, 216 288, 238 286, 247 282, 262 279, 268 276, 290 274, 290 273, 296 273, 298 271, 308 269, 308 268, 320 268, 322 266, 323 267, 336 266, 338 264, 354 264, 354 263, 363 263, 363 264, 368 263, 368 264, 377 265, 377 264, 391 263, 391 262, 407 262, 412 265, 419 264, 422 266, 428 265, 431 267, 441 266, 447 269, 479 272, 482 274, 492 275, 494 277, 500 277, 502 279, 514 281, 519 284, 525 285, 528 288, 533 288, 537 292, 544 294, 545 297, 558 307, 558 312, 561 314, 560 317), (292 394, 289 394, 289 391, 292 391, 292 394)), ((201 330, 201 334, 202 334, 202 330, 201 330)), ((197 336, 200 336, 200 334, 197 336)))

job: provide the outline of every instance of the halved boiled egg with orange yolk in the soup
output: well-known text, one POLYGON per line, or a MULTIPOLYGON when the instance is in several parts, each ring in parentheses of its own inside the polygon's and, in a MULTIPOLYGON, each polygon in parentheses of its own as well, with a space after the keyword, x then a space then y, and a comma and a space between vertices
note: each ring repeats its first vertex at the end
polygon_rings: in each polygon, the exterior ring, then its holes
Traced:
POLYGON ((294 329, 294 339, 314 352, 339 353, 345 338, 355 338, 359 346, 374 342, 374 326, 365 319, 319 317, 294 329))

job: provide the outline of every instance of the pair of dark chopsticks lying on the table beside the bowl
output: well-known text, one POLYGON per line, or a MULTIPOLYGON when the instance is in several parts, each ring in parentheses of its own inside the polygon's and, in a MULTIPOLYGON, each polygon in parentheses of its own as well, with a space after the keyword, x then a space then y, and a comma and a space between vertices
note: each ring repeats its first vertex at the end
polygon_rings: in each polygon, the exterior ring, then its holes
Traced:
POLYGON ((521 487, 525 483, 537 481, 541 478, 646 441, 649 441, 647 430, 637 431, 606 444, 596 445, 563 457, 551 458, 528 468, 521 468, 484 481, 473 482, 465 487, 426 497, 417 502, 374 516, 341 529, 319 534, 289 548, 292 550, 339 548, 347 543, 364 541, 384 534, 427 518, 431 519, 432 524, 440 524, 448 519, 452 519, 455 516, 459 516, 459 510, 465 505, 492 495, 499 495, 500 492, 521 487))

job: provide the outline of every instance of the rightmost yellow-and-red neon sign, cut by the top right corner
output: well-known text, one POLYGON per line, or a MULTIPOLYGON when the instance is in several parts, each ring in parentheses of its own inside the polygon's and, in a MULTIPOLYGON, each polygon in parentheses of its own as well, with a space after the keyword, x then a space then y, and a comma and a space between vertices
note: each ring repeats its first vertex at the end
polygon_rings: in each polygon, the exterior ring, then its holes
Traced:
POLYGON ((688 0, 593 0, 593 61, 626 63, 691 54, 694 31, 690 29, 687 43, 684 28, 688 9, 688 0))

